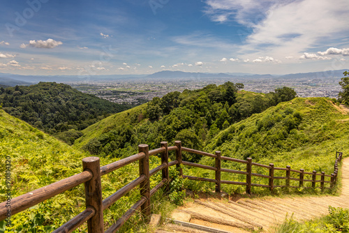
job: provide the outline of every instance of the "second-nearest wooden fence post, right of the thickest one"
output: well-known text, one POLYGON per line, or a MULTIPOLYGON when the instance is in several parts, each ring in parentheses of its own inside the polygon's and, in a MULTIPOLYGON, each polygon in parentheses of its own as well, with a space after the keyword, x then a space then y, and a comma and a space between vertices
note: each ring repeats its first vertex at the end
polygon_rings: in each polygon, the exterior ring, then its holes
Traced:
POLYGON ((150 216, 150 175, 149 175, 149 146, 147 144, 140 144, 138 152, 145 153, 145 157, 140 159, 140 176, 144 175, 145 180, 140 183, 140 195, 147 198, 147 200, 140 207, 144 216, 150 216))

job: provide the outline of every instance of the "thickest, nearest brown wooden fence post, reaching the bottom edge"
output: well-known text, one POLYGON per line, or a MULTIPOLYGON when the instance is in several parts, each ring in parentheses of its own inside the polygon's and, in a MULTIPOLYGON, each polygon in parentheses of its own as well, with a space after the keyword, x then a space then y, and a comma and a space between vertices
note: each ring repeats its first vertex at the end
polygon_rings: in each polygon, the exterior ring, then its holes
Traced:
POLYGON ((89 233, 103 233, 103 197, 99 158, 88 157, 82 159, 82 167, 84 171, 89 171, 93 174, 92 179, 84 183, 84 187, 86 207, 93 207, 96 211, 94 216, 87 221, 87 229, 89 233))

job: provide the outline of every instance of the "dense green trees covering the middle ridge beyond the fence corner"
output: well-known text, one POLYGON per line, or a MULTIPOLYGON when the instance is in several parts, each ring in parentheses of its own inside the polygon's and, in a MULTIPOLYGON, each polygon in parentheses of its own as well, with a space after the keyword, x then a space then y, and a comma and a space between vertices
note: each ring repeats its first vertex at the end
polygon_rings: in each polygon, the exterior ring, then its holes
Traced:
POLYGON ((232 82, 218 87, 210 84, 182 93, 174 91, 83 130, 84 135, 75 146, 92 154, 111 157, 132 154, 142 143, 156 148, 161 141, 181 140, 188 147, 203 149, 231 124, 295 96, 295 91, 288 87, 267 94, 238 93, 232 82))

